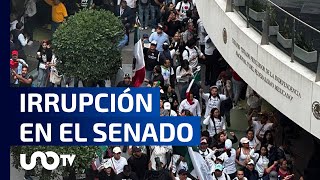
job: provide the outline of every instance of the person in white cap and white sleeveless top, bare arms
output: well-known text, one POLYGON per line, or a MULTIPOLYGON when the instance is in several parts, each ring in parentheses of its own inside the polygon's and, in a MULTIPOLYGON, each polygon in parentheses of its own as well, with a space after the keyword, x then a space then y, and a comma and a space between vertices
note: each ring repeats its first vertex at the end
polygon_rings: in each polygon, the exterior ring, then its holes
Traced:
POLYGON ((237 149, 236 162, 240 166, 245 167, 246 163, 250 160, 250 150, 251 149, 249 147, 249 139, 247 137, 241 138, 240 144, 241 144, 241 146, 237 149))

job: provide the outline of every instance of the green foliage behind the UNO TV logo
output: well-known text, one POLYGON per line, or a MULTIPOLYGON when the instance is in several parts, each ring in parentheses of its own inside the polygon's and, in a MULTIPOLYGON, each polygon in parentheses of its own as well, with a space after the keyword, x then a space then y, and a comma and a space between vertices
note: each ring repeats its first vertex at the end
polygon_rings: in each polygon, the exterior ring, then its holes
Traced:
MULTIPOLYGON (((47 152, 53 151, 60 154, 75 154, 76 157, 72 164, 72 167, 76 173, 83 173, 84 170, 90 165, 93 158, 96 157, 96 152, 100 151, 98 146, 12 146, 11 155, 13 158, 12 165, 21 169, 20 166, 20 154, 26 154, 27 162, 30 161, 31 155, 36 151, 47 152)), ((62 167, 61 164, 55 171, 44 170, 39 164, 32 170, 33 174, 40 177, 42 180, 49 180, 58 177, 59 175, 68 176, 70 167, 62 167)), ((48 159, 48 163, 52 163, 52 158, 48 159)))

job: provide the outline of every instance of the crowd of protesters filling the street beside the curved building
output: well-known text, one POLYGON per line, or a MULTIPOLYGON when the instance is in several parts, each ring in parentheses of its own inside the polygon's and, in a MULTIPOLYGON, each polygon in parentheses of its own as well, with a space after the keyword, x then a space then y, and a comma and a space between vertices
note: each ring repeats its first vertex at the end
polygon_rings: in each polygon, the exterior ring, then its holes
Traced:
MULTIPOLYGON (((262 97, 247 86, 223 59, 199 18, 195 2, 45 1, 52 6, 52 31, 82 8, 103 8, 114 12, 126 29, 121 46, 130 42, 129 33, 138 14, 140 30, 152 29, 151 34, 142 36, 146 69, 142 86, 161 89, 161 116, 201 117, 199 124, 203 128, 198 151, 209 166, 212 179, 293 179, 291 157, 286 146, 275 140, 277 119, 272 113, 262 111, 262 97), (200 67, 205 71, 205 79, 201 79, 200 67), (209 87, 208 92, 201 81, 209 87), (241 100, 246 100, 247 106, 241 106, 241 100), (238 138, 228 130, 230 111, 244 108, 248 128, 245 137, 238 138)), ((24 47, 33 41, 30 26, 34 23, 32 17, 36 8, 34 0, 28 0, 27 4, 24 23, 17 17, 12 17, 11 21, 11 86, 57 85, 53 82, 57 60, 50 41, 43 41, 37 51, 37 82, 33 83, 33 77, 28 75, 24 47)), ((79 80, 74 81, 77 87, 79 80)), ((130 75, 125 74, 117 86, 131 87, 130 75)), ((101 158, 99 165, 91 164, 86 172, 87 179, 197 179, 188 171, 190 167, 185 157, 174 154, 172 146, 109 147, 101 158), (128 153, 130 157, 126 159, 122 153, 128 153)))

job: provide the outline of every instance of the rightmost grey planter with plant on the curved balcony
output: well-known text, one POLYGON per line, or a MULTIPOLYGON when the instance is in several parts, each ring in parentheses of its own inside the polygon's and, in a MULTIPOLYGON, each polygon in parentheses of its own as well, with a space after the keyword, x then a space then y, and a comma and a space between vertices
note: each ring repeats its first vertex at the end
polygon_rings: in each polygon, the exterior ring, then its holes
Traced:
POLYGON ((306 63, 317 62, 317 51, 313 48, 313 43, 307 41, 302 33, 297 35, 293 54, 306 63))

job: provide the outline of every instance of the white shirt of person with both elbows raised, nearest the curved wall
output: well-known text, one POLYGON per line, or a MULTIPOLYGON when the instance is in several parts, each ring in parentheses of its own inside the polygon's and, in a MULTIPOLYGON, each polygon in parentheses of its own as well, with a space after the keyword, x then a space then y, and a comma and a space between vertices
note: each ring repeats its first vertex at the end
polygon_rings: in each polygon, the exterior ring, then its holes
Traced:
POLYGON ((202 93, 202 98, 206 101, 206 113, 204 115, 205 118, 210 116, 212 108, 218 108, 220 111, 221 101, 227 99, 227 96, 223 94, 219 94, 220 99, 218 97, 209 97, 210 93, 202 93))

